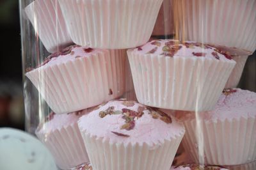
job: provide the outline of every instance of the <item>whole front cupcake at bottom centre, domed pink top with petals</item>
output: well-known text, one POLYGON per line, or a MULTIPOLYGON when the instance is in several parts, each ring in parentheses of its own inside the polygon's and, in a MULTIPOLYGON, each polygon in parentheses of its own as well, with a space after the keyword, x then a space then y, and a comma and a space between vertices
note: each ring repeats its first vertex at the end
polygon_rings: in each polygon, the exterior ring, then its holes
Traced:
POLYGON ((127 100, 100 105, 78 125, 94 170, 168 170, 185 132, 164 112, 127 100))

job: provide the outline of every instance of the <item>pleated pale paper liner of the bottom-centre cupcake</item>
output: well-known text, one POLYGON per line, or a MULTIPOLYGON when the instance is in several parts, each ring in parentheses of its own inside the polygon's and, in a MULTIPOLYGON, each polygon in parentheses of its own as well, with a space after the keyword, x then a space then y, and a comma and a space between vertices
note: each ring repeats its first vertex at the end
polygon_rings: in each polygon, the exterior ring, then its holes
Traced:
POLYGON ((81 134, 93 170, 168 170, 184 135, 165 139, 164 143, 152 147, 147 143, 109 143, 109 139, 88 134, 85 130, 81 130, 81 134))

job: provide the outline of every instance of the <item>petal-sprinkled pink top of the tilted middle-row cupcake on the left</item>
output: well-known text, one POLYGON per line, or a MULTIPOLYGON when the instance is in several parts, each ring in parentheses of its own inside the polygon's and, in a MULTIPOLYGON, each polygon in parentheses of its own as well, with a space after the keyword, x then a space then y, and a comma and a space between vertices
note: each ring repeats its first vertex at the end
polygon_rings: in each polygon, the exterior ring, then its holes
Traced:
POLYGON ((90 57, 93 54, 99 52, 104 52, 106 50, 101 49, 91 49, 87 47, 81 47, 80 45, 72 45, 65 49, 62 49, 60 52, 55 52, 48 56, 45 61, 38 67, 47 67, 52 65, 58 65, 61 63, 67 63, 67 61, 74 60, 81 57, 90 57))

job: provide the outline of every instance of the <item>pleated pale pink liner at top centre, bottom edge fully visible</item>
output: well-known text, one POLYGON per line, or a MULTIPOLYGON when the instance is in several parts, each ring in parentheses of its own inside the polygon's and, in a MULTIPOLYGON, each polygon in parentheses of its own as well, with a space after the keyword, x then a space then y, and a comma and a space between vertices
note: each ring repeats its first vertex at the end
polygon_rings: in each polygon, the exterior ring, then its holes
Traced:
POLYGON ((59 0, 72 40, 99 49, 146 43, 163 0, 59 0))

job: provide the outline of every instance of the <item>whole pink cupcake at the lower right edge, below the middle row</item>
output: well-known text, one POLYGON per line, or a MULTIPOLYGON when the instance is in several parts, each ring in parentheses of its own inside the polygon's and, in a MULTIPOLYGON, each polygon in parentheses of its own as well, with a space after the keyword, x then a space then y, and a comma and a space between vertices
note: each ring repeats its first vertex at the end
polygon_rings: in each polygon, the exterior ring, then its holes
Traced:
POLYGON ((255 117, 256 93, 225 89, 212 111, 183 116, 186 134, 182 144, 195 162, 202 154, 210 165, 252 162, 256 160, 255 117))

